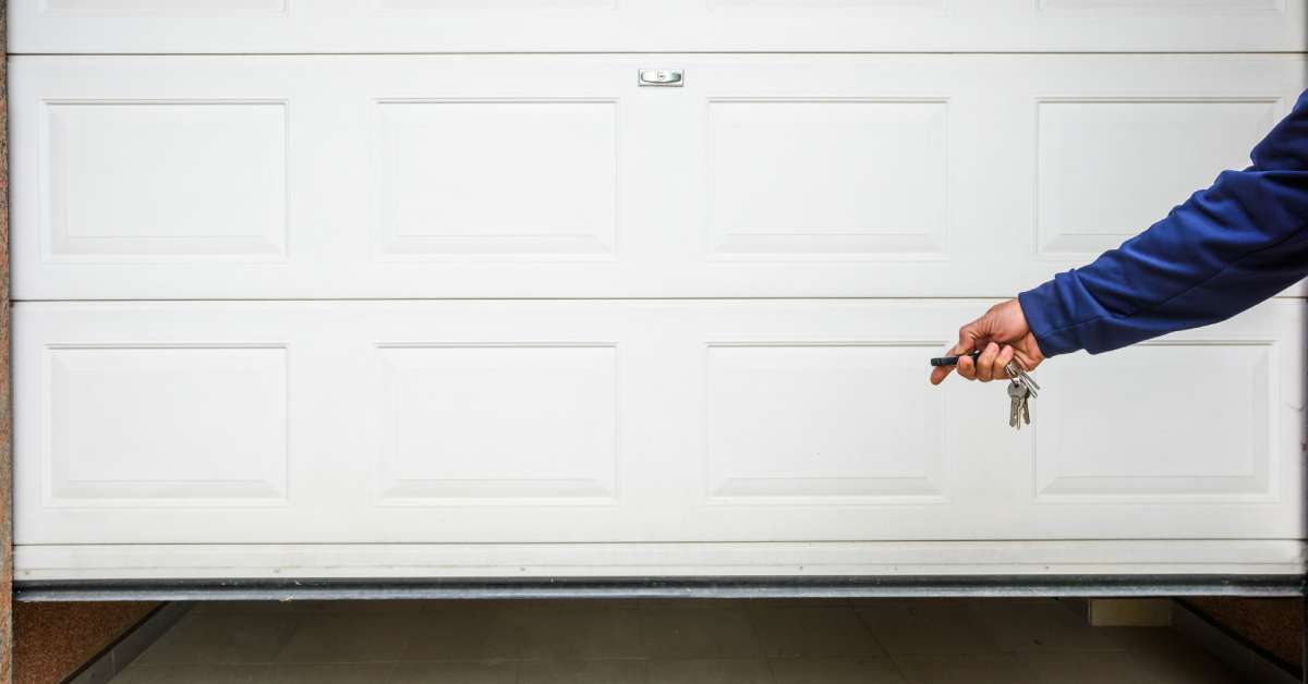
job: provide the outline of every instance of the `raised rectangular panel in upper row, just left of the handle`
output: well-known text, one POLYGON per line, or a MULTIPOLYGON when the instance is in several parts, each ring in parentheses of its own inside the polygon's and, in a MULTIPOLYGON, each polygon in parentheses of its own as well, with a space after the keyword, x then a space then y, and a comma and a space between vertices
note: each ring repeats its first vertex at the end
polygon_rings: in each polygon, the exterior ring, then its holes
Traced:
POLYGON ((388 256, 611 256, 611 101, 382 102, 388 256))

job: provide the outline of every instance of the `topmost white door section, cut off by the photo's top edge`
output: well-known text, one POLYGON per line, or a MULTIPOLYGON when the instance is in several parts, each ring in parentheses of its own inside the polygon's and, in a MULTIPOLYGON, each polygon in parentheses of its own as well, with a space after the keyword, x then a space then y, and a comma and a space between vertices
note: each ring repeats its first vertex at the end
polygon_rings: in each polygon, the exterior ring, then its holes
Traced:
POLYGON ((1303 0, 22 0, 9 17, 14 54, 1292 51, 1304 38, 1303 0))

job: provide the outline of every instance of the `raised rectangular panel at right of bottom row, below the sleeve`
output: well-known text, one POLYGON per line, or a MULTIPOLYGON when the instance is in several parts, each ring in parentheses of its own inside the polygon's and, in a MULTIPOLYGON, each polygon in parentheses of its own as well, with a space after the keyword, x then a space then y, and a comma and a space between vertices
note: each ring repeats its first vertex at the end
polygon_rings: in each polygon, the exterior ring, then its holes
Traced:
MULTIPOLYGON (((1271 343, 1156 343, 1050 368, 1036 403, 1036 497, 1273 497, 1271 343), (1143 382, 1143 378, 1175 378, 1143 382)), ((1296 381, 1298 382, 1298 381, 1296 381)))

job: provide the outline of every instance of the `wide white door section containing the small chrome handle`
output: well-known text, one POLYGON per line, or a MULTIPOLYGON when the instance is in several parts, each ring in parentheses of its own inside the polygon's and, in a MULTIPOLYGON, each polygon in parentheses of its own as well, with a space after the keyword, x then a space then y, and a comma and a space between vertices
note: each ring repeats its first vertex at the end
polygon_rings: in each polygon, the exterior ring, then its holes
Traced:
POLYGON ((1248 165, 1303 84, 1290 56, 16 58, 14 293, 1006 297, 1248 165))

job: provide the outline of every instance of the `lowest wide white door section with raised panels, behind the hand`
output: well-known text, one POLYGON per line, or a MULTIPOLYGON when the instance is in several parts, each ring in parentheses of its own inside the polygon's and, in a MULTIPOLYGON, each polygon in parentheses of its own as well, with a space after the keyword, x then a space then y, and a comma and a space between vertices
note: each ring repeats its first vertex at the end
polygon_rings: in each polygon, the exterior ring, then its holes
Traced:
POLYGON ((1301 303, 1056 358, 1020 433, 1002 386, 925 379, 982 306, 20 302, 17 536, 1299 535, 1301 303))

